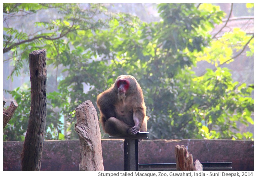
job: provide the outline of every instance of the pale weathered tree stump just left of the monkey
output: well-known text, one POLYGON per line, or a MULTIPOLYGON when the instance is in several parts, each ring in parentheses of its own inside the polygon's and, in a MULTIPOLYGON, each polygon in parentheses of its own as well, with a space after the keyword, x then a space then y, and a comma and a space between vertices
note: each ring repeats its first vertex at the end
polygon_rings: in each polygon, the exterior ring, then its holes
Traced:
POLYGON ((104 170, 101 133, 96 109, 92 102, 87 100, 75 110, 77 123, 74 129, 80 140, 79 170, 104 170))

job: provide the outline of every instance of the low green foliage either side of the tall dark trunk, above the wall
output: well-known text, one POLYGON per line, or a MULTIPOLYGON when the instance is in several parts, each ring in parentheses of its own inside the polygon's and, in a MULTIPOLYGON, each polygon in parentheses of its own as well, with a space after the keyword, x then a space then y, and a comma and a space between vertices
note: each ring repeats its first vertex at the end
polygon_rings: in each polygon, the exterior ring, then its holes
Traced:
MULTIPOLYGON (((20 87, 13 91, 6 91, 10 93, 13 99, 17 102, 18 108, 15 111, 12 119, 4 129, 4 141, 24 141, 25 133, 28 127, 29 113, 30 113, 30 88, 20 87)), ((67 107, 67 101, 62 98, 60 93, 51 92, 47 95, 47 121, 45 129, 45 138, 48 140, 63 139, 61 130, 63 129, 62 122, 60 122, 61 111, 60 108, 67 107)), ((8 108, 8 107, 7 107, 8 108)))

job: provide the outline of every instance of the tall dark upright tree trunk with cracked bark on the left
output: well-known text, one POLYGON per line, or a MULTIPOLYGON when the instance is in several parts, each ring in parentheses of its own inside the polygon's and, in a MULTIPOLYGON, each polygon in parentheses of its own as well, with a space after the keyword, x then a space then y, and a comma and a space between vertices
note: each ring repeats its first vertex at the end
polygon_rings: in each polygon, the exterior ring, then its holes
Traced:
POLYGON ((46 122, 46 49, 29 53, 31 105, 22 150, 22 170, 40 170, 46 122))

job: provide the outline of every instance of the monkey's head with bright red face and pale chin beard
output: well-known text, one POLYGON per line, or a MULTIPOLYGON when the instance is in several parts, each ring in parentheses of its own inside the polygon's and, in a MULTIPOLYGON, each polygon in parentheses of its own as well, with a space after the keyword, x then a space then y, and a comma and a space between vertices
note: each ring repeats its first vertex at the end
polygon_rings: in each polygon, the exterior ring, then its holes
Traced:
POLYGON ((137 86, 137 80, 131 75, 120 75, 114 83, 114 89, 118 92, 118 98, 125 99, 137 86))

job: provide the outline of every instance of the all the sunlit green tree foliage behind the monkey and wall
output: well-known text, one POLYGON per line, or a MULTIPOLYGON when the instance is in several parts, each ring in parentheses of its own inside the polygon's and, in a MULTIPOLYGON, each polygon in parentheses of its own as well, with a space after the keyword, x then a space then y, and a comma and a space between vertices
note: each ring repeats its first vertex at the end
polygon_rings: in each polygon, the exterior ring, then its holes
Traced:
MULTIPOLYGON (((39 48, 47 49, 48 67, 62 70, 58 90, 47 93, 46 139, 77 138, 75 108, 86 100, 96 106, 97 95, 121 74, 134 75, 144 91, 152 139, 252 139, 249 132, 239 133, 237 124, 254 123, 253 89, 233 82, 230 71, 218 66, 232 62, 246 44, 252 56, 254 40, 240 29, 212 39, 210 30, 224 17, 218 6, 162 3, 161 20, 146 23, 130 14, 108 13, 102 4, 4 4, 5 13, 14 14, 51 8, 60 17, 35 22, 35 35, 6 27, 3 36, 3 51, 14 61, 11 77, 20 75, 29 52, 39 48), (191 66, 203 60, 216 69, 196 76, 191 66), (60 121, 64 118, 68 127, 60 121)), ((10 93, 22 109, 13 121, 23 121, 23 129, 10 122, 5 140, 23 140, 30 98, 28 92, 10 93)))

